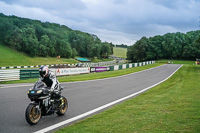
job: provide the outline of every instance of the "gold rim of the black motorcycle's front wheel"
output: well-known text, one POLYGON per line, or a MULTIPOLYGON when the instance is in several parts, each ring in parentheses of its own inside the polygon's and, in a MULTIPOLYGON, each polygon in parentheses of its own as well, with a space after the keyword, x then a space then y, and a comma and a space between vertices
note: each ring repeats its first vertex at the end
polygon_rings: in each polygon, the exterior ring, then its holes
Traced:
POLYGON ((35 106, 32 106, 31 111, 29 113, 29 117, 33 123, 37 123, 40 120, 41 111, 39 111, 39 113, 37 114, 37 110, 36 110, 35 106))

